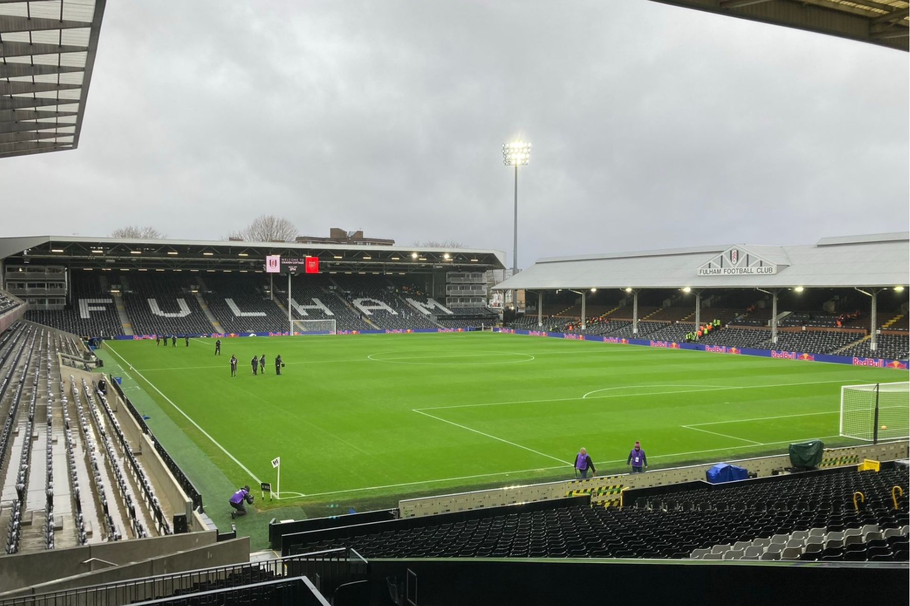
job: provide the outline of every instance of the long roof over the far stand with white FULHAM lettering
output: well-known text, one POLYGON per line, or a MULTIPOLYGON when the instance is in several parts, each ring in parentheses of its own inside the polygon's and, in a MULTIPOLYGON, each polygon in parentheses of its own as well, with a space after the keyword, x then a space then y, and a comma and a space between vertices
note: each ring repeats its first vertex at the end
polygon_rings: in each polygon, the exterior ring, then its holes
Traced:
MULTIPOLYGON (((0 0, 2 1, 2 0, 0 0)), ((426 272, 505 268, 505 253, 480 248, 383 247, 297 242, 166 240, 119 237, 0 237, 0 259, 84 268, 258 270, 267 255, 320 258, 325 270, 426 272)))

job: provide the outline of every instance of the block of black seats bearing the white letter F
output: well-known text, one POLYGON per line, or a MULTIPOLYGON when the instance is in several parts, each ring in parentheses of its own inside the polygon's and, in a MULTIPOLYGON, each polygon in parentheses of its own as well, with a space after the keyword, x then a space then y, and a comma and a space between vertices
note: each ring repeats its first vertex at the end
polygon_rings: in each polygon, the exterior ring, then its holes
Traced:
POLYGON ((114 298, 101 286, 100 272, 70 272, 70 294, 65 309, 27 309, 25 319, 84 337, 123 334, 114 298))

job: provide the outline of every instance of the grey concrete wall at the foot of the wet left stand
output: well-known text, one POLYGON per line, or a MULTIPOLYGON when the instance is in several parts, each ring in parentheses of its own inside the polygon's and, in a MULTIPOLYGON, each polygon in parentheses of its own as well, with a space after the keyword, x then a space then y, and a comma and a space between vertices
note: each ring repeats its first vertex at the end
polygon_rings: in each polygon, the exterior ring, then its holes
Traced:
MULTIPOLYGON (((117 540, 62 550, 8 555, 0 558, 0 594, 4 591, 12 591, 67 577, 84 575, 86 572, 98 571, 101 568, 111 570, 112 574, 116 574, 111 569, 112 565, 122 567, 130 562, 144 561, 150 558, 174 554, 178 551, 215 545, 216 542, 217 531, 209 530, 148 539, 117 540), (96 560, 92 561, 92 559, 96 560)), ((249 550, 247 550, 246 554, 247 559, 248 556, 249 550)), ((207 565, 203 563, 202 566, 197 568, 207 565)), ((212 565, 215 566, 216 564, 212 565)), ((132 577, 122 578, 128 579, 132 577)), ((112 580, 116 581, 116 579, 112 580)))

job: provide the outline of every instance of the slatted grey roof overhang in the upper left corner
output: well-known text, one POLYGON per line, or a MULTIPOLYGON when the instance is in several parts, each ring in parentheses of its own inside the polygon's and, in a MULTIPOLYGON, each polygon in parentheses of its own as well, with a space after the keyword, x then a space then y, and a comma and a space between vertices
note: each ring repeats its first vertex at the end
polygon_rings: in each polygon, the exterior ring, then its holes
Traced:
POLYGON ((0 158, 76 149, 106 0, 0 0, 0 158))

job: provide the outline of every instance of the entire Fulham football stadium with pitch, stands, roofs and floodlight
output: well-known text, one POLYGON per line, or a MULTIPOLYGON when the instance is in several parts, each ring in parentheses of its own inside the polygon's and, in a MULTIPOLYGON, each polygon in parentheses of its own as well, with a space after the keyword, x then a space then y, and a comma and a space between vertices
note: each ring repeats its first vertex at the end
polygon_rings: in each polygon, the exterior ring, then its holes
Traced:
MULTIPOLYGON (((79 153, 105 10, 0 0, 0 170, 79 153)), ((502 150, 509 255, 0 237, 0 606, 905 600, 910 232, 519 271, 502 150)))

